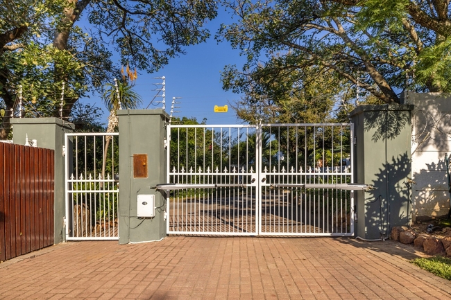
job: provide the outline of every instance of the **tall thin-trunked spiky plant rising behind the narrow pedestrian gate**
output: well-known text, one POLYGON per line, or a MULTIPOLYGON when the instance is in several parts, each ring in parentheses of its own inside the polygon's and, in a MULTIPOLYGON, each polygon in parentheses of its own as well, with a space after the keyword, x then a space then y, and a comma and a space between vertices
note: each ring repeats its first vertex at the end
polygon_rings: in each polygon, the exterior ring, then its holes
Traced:
MULTIPOLYGON (((137 109, 139 104, 142 103, 142 98, 133 90, 134 82, 137 79, 136 69, 135 72, 131 72, 127 66, 126 71, 124 68, 121 70, 123 81, 116 80, 114 78, 114 84, 108 83, 105 85, 105 93, 102 95, 103 103, 110 111, 108 117, 108 127, 106 132, 112 133, 114 129, 119 125, 119 118, 116 111, 118 109, 137 109)), ((102 177, 105 179, 105 164, 108 152, 108 146, 112 136, 105 137, 105 151, 103 152, 103 164, 102 164, 102 177)))

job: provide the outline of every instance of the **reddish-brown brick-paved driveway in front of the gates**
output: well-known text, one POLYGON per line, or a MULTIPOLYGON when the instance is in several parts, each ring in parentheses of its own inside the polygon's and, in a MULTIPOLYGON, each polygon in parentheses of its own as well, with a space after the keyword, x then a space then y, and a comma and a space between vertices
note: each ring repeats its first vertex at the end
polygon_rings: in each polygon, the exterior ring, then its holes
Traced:
POLYGON ((451 299, 451 281, 381 245, 186 236, 68 242, 1 263, 0 299, 451 299))

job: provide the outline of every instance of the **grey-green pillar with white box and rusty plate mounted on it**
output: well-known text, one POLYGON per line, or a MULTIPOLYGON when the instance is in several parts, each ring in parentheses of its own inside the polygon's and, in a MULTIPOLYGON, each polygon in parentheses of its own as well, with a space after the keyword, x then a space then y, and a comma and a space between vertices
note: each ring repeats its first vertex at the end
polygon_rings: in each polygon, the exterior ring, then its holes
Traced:
POLYGON ((119 244, 161 240, 167 234, 162 193, 167 181, 167 123, 163 109, 118 110, 119 244), (149 216, 154 212, 154 216, 149 216))

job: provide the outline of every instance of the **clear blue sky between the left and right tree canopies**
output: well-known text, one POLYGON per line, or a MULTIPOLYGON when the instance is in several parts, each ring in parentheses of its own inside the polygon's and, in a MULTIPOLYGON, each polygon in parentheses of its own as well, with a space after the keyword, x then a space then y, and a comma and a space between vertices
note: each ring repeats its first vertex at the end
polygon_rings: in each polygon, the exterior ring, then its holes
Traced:
MULTIPOLYGON (((221 9, 220 9, 221 10, 221 9)), ((207 24, 212 37, 206 43, 189 46, 185 48, 186 54, 178 58, 169 60, 169 64, 163 67, 157 73, 147 74, 141 72, 138 75, 135 90, 142 96, 143 104, 141 108, 146 108, 153 97, 158 93, 155 89, 161 88, 161 79, 166 78, 166 102, 167 112, 171 107, 172 97, 181 97, 177 99, 180 107, 175 110, 180 111, 175 116, 195 117, 200 123, 203 118, 207 118, 207 124, 235 124, 241 123, 229 103, 240 98, 239 95, 231 91, 224 91, 220 80, 221 71, 227 64, 237 64, 241 66, 245 58, 239 55, 238 50, 232 49, 228 42, 218 44, 214 39, 214 34, 221 23, 230 24, 232 19, 222 13, 221 17, 210 21, 207 24), (228 112, 214 113, 214 105, 228 105, 228 112)), ((155 101, 161 101, 162 98, 155 98, 155 101)), ((105 112, 102 122, 106 123, 108 114, 99 96, 83 99, 82 103, 96 103, 105 112)), ((151 106, 150 108, 155 108, 151 106)), ((162 105, 158 105, 161 108, 162 105)))

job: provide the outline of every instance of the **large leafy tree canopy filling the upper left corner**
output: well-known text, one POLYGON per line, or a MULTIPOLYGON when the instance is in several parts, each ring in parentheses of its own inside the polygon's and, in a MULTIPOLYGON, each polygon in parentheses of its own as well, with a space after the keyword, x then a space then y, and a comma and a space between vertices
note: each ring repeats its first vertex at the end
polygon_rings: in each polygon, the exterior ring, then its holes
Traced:
MULTIPOLYGON (((111 51, 119 53, 123 65, 157 71, 185 53, 185 46, 205 42, 209 33, 203 24, 216 17, 213 0, 0 1, 6 3, 0 6, 1 17, 18 20, 0 21, 0 49, 8 50, 8 55, 0 53, 0 67, 6 70, 0 78, 0 105, 5 112, 13 109, 22 85, 27 98, 38 95, 36 106, 59 116, 65 82, 62 118, 66 119, 80 97, 93 90, 103 94, 105 82, 118 73, 111 51), (89 32, 77 26, 82 17, 92 24, 89 32), (36 18, 41 22, 35 23, 36 18), (3 36, 8 39, 1 44, 3 36)), ((6 132, 8 116, 2 126, 6 132)))

